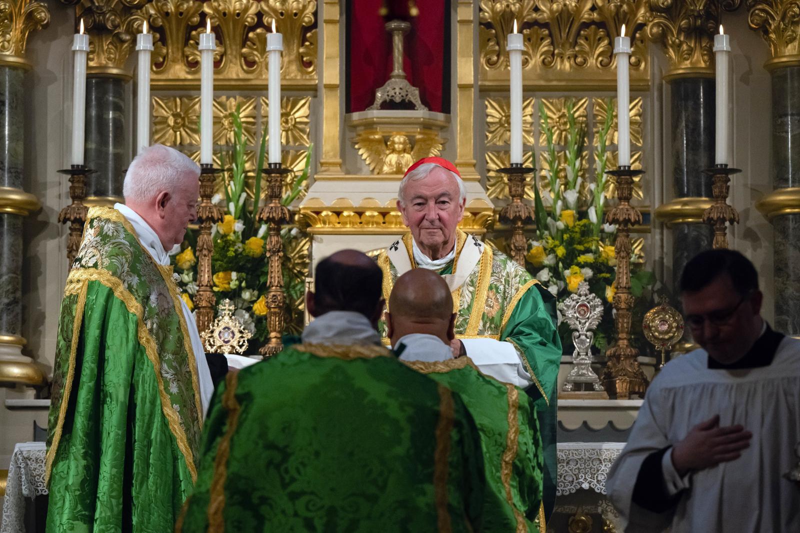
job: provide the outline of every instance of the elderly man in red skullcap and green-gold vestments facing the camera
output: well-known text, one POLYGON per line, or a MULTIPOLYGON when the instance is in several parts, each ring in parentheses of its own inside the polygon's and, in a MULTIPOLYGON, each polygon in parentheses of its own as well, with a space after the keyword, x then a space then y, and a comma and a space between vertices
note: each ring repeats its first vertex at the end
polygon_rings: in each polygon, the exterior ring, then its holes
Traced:
MULTIPOLYGON (((456 313, 454 351, 534 399, 545 464, 543 509, 549 517, 555 503, 556 380, 562 355, 555 298, 510 257, 458 229, 466 190, 450 161, 426 157, 411 165, 400 182, 397 205, 410 231, 378 257, 384 297, 388 300, 394 281, 413 268, 444 278, 456 313)), ((390 344, 385 321, 379 329, 390 344)))

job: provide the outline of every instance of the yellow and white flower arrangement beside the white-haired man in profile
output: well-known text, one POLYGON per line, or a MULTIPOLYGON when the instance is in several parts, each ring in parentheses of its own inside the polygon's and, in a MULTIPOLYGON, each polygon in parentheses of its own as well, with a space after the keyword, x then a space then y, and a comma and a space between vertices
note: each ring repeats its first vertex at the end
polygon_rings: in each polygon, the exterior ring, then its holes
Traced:
MULTIPOLYGON (((230 113, 234 129, 234 143, 223 147, 220 153, 223 179, 225 182, 224 197, 214 195, 212 202, 219 205, 224 213, 222 222, 212 228, 214 253, 211 257, 211 269, 214 272, 214 292, 217 304, 229 298, 236 308, 234 316, 242 320, 244 327, 253 334, 248 348, 249 353, 258 353, 258 348, 266 344, 268 331, 266 327, 266 280, 267 265, 265 251, 266 224, 256 221, 259 201, 261 200, 261 172, 263 168, 266 134, 258 149, 255 166, 255 186, 253 197, 245 191, 246 178, 250 171, 245 168, 246 141, 242 135, 240 109, 230 113), (230 157, 230 161, 227 158, 230 157)), ((306 188, 309 176, 311 150, 306 155, 306 164, 302 174, 294 179, 282 198, 282 205, 289 206, 306 188)), ((306 235, 297 227, 287 225, 282 228, 281 238, 284 243, 284 291, 286 293, 286 333, 295 333, 302 329, 302 302, 304 296, 305 274, 291 265, 292 256, 298 249, 299 241, 307 241, 306 235)), ((176 272, 181 276, 179 286, 182 298, 190 310, 194 309, 192 300, 196 294, 197 258, 194 250, 197 237, 187 232, 182 251, 172 259, 176 272)))

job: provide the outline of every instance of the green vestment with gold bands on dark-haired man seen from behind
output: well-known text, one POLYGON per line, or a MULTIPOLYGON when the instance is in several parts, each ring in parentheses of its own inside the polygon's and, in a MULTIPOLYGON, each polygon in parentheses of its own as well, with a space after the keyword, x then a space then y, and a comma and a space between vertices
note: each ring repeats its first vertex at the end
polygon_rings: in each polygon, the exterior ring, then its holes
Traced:
POLYGON ((176 531, 484 531, 461 398, 377 345, 295 344, 230 373, 176 531))

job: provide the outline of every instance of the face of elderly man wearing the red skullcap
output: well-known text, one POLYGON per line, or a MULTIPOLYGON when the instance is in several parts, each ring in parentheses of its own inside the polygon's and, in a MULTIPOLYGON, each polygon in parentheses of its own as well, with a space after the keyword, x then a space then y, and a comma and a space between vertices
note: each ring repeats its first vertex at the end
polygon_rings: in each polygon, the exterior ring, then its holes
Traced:
POLYGON ((466 199, 461 201, 456 178, 437 167, 422 180, 410 181, 404 193, 405 205, 398 201, 398 209, 419 249, 432 259, 450 253, 466 204, 466 199))

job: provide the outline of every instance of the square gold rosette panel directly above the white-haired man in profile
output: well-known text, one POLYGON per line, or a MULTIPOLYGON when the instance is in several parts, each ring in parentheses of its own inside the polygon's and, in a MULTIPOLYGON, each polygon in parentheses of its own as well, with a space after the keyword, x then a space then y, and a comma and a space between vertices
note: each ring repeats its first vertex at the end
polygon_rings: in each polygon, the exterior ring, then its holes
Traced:
POLYGON ((200 144, 200 97, 153 97, 153 143, 200 144))

